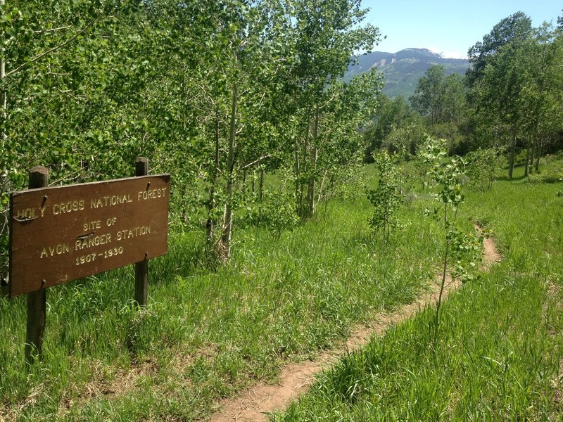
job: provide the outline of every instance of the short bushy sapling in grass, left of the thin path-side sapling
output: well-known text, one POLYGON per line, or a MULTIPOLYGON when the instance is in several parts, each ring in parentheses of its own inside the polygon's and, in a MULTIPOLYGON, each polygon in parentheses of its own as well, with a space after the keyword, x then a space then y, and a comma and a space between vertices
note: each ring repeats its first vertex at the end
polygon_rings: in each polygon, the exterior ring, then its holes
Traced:
POLYGON ((403 202, 401 169, 398 166, 398 156, 383 152, 374 155, 375 167, 379 172, 377 187, 367 194, 369 202, 374 207, 374 214, 369 220, 372 231, 381 231, 385 241, 389 240, 391 230, 399 222, 397 212, 403 202))

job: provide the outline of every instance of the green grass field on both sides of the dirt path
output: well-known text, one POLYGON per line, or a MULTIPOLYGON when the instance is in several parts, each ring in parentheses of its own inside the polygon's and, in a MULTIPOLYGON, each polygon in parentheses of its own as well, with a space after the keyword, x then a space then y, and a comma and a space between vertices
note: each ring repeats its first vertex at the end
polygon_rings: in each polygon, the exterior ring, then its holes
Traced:
MULTIPOLYGON (((460 220, 495 232, 505 260, 446 303, 374 338, 320 376, 276 421, 536 420, 562 414, 563 198, 559 184, 498 181, 460 220)), ((132 267, 47 291, 44 362, 27 368, 25 298, 0 298, 0 420, 191 421, 217 400, 275 381, 354 324, 412 302, 442 244, 411 195, 388 245, 370 205, 334 200, 277 239, 245 226, 232 261, 203 264, 203 234, 172 233, 151 261, 149 305, 132 303, 132 267)))

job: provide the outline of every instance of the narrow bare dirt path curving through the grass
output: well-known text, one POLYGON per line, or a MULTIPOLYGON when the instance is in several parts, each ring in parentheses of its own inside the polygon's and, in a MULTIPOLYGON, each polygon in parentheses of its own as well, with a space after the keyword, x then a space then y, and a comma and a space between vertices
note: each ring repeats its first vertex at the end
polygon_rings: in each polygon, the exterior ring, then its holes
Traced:
MULTIPOLYGON (((481 231, 479 226, 475 228, 481 231)), ((493 238, 483 239, 483 262, 481 269, 488 269, 495 262, 502 259, 498 252, 493 238)), ((445 286, 444 297, 451 291, 460 286, 457 281, 452 282, 448 279, 445 286)), ((290 364, 281 370, 279 383, 268 385, 258 383, 250 390, 245 390, 232 399, 225 399, 220 402, 220 410, 211 416, 211 422, 262 422, 267 421, 267 415, 272 411, 284 409, 292 399, 303 394, 315 375, 325 367, 333 364, 346 352, 357 350, 365 345, 372 335, 381 335, 387 328, 400 321, 410 318, 426 305, 438 300, 438 284, 432 284, 431 291, 422 295, 416 302, 404 305, 396 312, 390 314, 379 314, 374 317, 374 321, 369 326, 355 328, 346 344, 334 350, 328 350, 320 354, 315 362, 305 361, 300 364, 290 364)))

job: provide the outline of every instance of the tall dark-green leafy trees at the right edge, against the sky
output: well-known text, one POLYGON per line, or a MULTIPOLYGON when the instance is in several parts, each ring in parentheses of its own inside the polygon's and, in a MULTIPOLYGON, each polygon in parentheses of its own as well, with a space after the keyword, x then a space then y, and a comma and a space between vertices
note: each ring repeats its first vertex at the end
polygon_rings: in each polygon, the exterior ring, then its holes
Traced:
MULTIPOLYGON (((481 146, 507 146, 512 179, 520 148, 531 162, 559 138, 563 72, 561 33, 548 24, 531 27, 524 13, 495 25, 469 51, 467 72, 481 146), (484 141, 484 144, 483 142, 484 141)), ((524 173, 529 174, 526 162, 524 173)))

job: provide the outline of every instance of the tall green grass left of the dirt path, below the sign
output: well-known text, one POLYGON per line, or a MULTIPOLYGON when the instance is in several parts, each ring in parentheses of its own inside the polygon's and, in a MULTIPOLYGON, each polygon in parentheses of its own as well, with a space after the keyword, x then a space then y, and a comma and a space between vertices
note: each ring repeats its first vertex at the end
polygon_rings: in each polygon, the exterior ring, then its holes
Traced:
POLYGON ((388 244, 369 234, 365 198, 279 238, 247 226, 234 256, 208 271, 203 234, 172 233, 151 261, 146 309, 131 267, 50 288, 44 362, 26 368, 25 298, 0 299, 0 418, 193 420, 287 361, 314 358, 353 324, 411 302, 436 265, 436 228, 410 223, 388 244))

